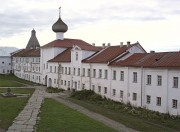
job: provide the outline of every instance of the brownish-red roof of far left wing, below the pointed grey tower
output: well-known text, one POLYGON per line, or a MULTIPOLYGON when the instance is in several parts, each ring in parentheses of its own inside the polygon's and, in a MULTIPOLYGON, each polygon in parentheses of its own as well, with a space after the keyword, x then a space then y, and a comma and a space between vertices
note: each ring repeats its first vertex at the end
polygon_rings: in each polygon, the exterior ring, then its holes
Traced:
POLYGON ((13 55, 13 57, 40 57, 40 48, 23 49, 13 55))

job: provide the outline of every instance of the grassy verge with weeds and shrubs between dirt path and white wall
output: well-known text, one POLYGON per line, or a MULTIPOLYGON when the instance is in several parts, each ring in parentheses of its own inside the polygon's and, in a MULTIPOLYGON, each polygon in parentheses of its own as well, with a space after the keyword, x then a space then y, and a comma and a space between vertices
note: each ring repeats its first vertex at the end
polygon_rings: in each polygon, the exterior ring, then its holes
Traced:
POLYGON ((180 118, 103 99, 93 91, 75 92, 69 100, 139 131, 180 131, 180 118))

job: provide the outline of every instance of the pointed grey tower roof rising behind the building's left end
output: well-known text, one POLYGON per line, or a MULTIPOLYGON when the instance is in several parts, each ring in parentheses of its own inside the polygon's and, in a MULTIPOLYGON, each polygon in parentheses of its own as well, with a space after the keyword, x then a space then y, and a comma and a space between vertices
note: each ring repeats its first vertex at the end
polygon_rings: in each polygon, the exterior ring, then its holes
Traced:
POLYGON ((31 37, 28 41, 26 49, 37 49, 39 47, 40 45, 39 45, 38 39, 36 38, 36 31, 33 29, 31 31, 31 37))

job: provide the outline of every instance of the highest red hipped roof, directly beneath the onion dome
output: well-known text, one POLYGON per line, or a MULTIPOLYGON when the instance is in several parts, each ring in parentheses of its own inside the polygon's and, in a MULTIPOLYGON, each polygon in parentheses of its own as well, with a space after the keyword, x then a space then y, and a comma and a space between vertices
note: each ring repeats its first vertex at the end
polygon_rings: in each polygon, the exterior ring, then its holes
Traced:
POLYGON ((54 40, 44 46, 42 48, 46 47, 65 47, 65 48, 72 48, 74 45, 79 46, 82 50, 90 50, 90 51, 99 51, 102 48, 92 46, 85 41, 79 40, 79 39, 64 39, 64 40, 54 40))

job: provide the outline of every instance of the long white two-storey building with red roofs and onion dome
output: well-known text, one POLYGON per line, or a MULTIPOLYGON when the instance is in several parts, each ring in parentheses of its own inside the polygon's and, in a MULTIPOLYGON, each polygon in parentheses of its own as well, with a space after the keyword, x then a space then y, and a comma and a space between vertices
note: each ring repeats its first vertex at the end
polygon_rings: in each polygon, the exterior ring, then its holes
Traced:
POLYGON ((97 47, 67 39, 61 17, 52 30, 56 40, 40 48, 36 40, 36 46, 13 56, 17 77, 65 90, 91 89, 115 101, 180 115, 180 52, 146 53, 139 42, 97 47))

